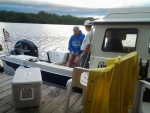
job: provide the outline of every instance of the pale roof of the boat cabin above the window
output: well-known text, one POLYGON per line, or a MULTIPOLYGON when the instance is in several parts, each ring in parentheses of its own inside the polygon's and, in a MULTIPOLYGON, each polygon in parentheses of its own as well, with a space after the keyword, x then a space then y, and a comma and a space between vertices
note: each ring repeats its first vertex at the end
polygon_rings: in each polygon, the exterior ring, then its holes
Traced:
POLYGON ((93 21, 96 24, 150 24, 150 8, 110 9, 105 17, 93 21))

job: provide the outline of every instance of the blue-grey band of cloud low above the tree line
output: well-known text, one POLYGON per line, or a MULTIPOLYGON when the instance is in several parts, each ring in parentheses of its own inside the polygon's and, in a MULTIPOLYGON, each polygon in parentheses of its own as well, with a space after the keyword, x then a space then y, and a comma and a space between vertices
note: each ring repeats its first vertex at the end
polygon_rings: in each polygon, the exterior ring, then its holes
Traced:
POLYGON ((35 6, 21 6, 21 5, 1 5, 0 10, 7 10, 7 11, 16 11, 16 12, 32 12, 38 13, 39 11, 45 11, 48 13, 55 13, 59 15, 73 15, 79 17, 97 17, 99 14, 105 14, 107 10, 99 9, 82 9, 82 8, 71 8, 71 7, 35 7, 35 6))

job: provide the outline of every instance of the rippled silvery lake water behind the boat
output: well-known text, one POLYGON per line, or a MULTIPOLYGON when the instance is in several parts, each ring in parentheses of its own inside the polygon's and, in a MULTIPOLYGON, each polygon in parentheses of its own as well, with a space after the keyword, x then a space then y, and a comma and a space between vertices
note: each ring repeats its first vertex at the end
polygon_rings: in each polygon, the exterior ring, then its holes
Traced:
MULTIPOLYGON (((3 52, 1 54, 8 54, 3 37, 3 28, 9 32, 10 38, 13 41, 13 43, 8 43, 10 50, 14 48, 18 40, 28 39, 38 46, 40 59, 46 60, 46 52, 49 50, 68 51, 68 41, 73 34, 73 27, 74 25, 0 22, 0 44, 3 46, 3 52)), ((79 27, 86 34, 84 26, 80 25, 79 27)))

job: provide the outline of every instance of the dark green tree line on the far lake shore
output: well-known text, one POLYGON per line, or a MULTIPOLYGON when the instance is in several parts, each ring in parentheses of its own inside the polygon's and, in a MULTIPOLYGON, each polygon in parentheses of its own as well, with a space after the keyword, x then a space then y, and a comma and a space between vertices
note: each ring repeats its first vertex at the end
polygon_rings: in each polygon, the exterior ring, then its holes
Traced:
POLYGON ((0 22, 83 25, 87 19, 94 20, 93 17, 83 18, 71 15, 57 15, 45 11, 39 11, 38 13, 0 11, 0 22))

